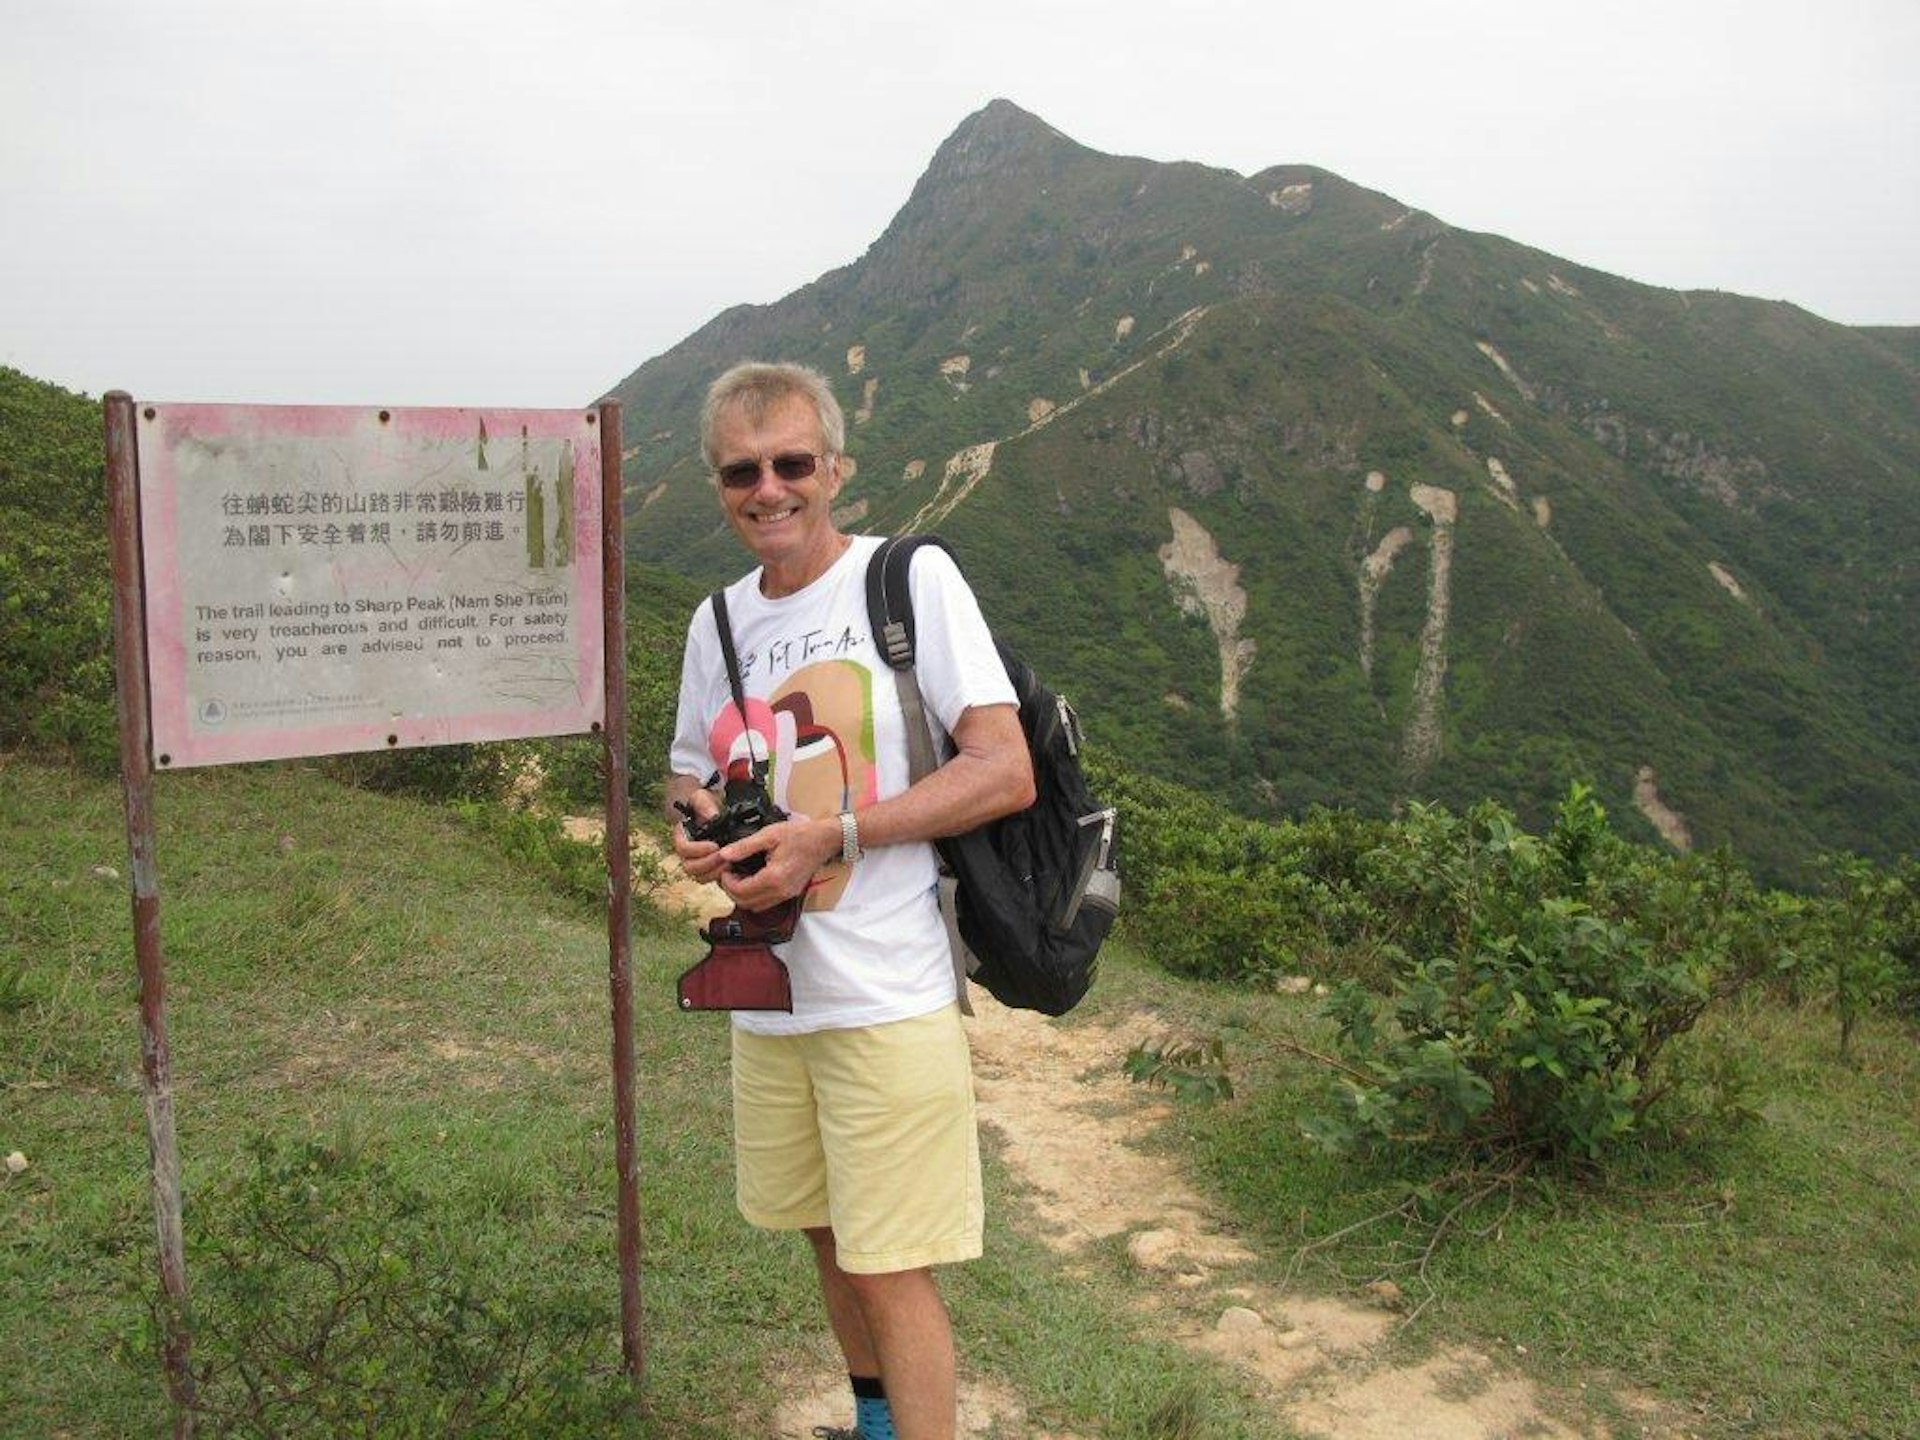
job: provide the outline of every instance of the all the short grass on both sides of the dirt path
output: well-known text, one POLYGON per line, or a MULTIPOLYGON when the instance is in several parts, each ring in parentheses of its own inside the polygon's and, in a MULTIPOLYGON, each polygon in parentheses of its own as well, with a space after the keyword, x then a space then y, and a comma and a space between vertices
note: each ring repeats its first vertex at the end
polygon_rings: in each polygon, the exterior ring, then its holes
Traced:
MULTIPOLYGON (((157 1434, 121 799, 0 764, 0 1154, 29 1160, 0 1177, 0 1434, 157 1434)), ((622 1407, 599 910, 451 810, 298 766, 167 776, 157 810, 190 1208, 215 1219, 259 1137, 378 1156, 501 1304, 601 1315, 584 1394, 541 1432, 762 1434, 781 1377, 831 1369, 804 1248, 733 1212, 724 1029, 666 998, 685 927, 636 935, 647 1380, 622 1407)), ((1116 947, 1087 1014, 1135 1008, 1221 1037, 1235 1098, 1179 1106, 1162 1142, 1277 1269, 1402 1194, 1300 1137, 1323 1077, 1275 1041, 1325 1044, 1311 998, 1179 983, 1116 947)), ((1851 1066, 1836 1039, 1830 1016, 1778 1004, 1705 1025, 1695 1062, 1749 1073, 1763 1119, 1607 1183, 1530 1183, 1440 1252, 1404 1344, 1476 1338, 1561 1392, 1649 1390, 1703 1440, 1920 1434, 1920 1056, 1889 1021, 1851 1066)), ((991 1154, 989 1225, 948 1298, 966 1363, 1035 1427, 1279 1434, 1231 1373, 1140 1325, 1117 1250, 1046 1250, 991 1154)), ((1417 1238, 1363 1231, 1298 1281, 1361 1284, 1417 1238)))

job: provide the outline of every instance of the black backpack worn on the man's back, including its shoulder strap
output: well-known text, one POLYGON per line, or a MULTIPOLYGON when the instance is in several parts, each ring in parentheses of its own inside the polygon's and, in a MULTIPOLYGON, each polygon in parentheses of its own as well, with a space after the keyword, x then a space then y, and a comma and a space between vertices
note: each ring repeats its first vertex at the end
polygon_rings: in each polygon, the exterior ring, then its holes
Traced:
MULTIPOLYGON (((900 689, 914 780, 935 766, 914 678, 914 605, 906 586, 908 564, 922 545, 952 555, 939 536, 895 536, 866 570, 868 618, 900 689)), ((954 918, 972 952, 973 981, 1000 1004, 1064 1016, 1092 985, 1094 958, 1119 910, 1116 812, 1087 789, 1073 708, 1006 645, 998 639, 995 645, 1020 697, 1035 801, 935 847, 954 879, 954 918)))

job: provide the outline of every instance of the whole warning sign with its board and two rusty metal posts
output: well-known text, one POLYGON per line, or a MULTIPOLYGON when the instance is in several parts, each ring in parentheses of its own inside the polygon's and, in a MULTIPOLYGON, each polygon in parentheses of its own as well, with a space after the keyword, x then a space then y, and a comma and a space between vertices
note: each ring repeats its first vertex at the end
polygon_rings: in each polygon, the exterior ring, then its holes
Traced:
POLYGON ((599 732, 620 1354, 639 1382, 620 405, 136 405, 115 390, 104 422, 140 1071, 175 1432, 194 1430, 194 1373, 157 768, 599 732))

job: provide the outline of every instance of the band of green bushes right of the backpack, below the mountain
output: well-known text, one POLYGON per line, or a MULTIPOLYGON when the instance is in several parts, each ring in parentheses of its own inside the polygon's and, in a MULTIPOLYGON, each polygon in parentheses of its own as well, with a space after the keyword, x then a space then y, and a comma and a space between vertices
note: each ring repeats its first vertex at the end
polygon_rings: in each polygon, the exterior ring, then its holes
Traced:
MULTIPOLYGON (((1668 1046, 1753 987, 1837 1021, 1912 1012, 1920 870, 1826 856, 1768 891, 1726 851, 1620 837, 1574 785, 1544 833, 1482 801, 1394 822, 1260 822, 1091 756, 1119 808, 1127 931, 1167 970, 1334 987, 1344 1062, 1315 1131, 1336 1148, 1609 1158, 1693 1123, 1668 1046)), ((1709 1096, 1726 1114, 1736 1096, 1709 1096)))

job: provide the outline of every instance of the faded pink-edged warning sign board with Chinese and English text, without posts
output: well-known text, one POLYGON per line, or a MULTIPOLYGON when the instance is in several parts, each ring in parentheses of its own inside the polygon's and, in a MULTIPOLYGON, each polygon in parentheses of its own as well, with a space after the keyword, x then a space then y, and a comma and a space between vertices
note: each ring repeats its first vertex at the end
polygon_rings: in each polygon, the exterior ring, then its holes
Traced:
POLYGON ((154 762, 605 722, 593 411, 138 407, 154 762))

